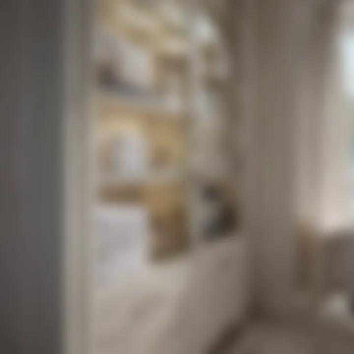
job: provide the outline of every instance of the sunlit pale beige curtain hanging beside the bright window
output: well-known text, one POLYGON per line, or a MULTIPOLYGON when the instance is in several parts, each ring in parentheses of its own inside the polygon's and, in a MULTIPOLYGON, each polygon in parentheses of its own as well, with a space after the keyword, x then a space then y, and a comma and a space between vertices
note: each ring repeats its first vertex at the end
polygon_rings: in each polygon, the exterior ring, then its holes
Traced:
POLYGON ((348 218, 348 124, 343 112, 339 6, 308 9, 297 124, 299 221, 337 227, 348 218))

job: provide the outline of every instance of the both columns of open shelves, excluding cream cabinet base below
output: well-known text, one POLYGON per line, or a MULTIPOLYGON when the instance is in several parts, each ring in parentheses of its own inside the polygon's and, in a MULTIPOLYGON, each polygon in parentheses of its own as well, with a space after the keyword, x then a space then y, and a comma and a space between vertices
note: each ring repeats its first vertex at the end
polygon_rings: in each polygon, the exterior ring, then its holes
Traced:
MULTIPOLYGON (((207 15, 198 13, 191 24, 188 11, 176 1, 98 0, 97 6, 98 195, 101 202, 148 209, 154 260, 208 238, 207 190, 229 214, 235 211, 227 185, 222 38, 207 15), (132 155, 144 166, 131 175, 121 171, 123 143, 144 155, 132 155)), ((214 228, 217 235, 232 233, 230 225, 214 228)))

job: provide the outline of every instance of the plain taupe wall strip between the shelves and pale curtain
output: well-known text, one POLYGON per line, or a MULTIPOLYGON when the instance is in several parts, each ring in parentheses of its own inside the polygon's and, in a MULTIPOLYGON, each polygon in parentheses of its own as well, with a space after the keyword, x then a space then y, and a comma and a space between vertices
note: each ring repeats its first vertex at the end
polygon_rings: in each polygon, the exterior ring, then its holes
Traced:
POLYGON ((255 305, 287 313, 295 295, 295 77, 298 5, 256 1, 251 9, 255 62, 248 104, 246 233, 253 262, 255 305))

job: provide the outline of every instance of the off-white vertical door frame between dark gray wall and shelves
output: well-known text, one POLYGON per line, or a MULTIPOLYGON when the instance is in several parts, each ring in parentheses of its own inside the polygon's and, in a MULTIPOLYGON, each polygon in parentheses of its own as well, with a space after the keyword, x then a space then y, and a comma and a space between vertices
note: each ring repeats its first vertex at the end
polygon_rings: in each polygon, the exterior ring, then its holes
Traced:
POLYGON ((92 354, 93 1, 64 0, 63 353, 92 354))

